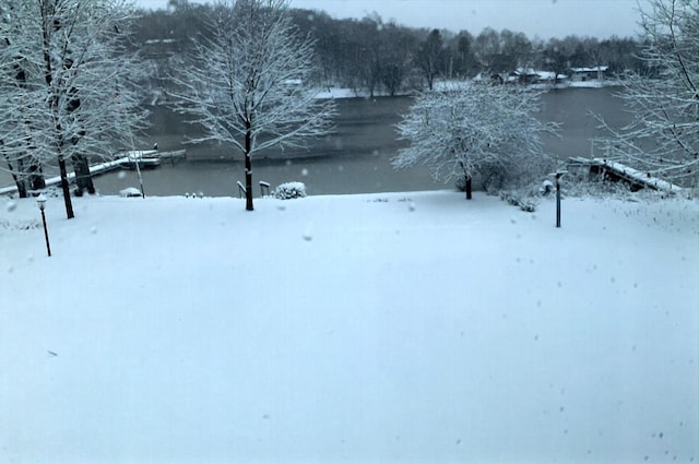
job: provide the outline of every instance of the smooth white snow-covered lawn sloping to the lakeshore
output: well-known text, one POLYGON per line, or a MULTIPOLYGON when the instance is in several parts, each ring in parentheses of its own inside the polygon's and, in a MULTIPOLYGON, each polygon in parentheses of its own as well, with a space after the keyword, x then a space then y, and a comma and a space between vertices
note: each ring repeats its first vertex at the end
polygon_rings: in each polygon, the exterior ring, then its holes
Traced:
POLYGON ((1 463, 699 461, 696 201, 74 205, 0 209, 1 463))

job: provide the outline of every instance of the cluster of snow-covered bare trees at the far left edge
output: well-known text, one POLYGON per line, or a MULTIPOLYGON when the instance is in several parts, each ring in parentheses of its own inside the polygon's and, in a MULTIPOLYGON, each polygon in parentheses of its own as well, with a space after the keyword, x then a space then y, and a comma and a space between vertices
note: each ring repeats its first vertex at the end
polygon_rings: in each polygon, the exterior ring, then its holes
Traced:
MULTIPOLYGON (((145 123, 138 62, 125 51, 132 7, 126 0, 9 0, 0 22, 2 154, 31 171, 58 166, 68 218, 74 216, 68 164, 79 191, 94 191, 88 156, 131 146, 145 123)), ((16 163, 15 163, 16 164, 16 163)), ((15 180, 25 172, 9 167, 15 180)))

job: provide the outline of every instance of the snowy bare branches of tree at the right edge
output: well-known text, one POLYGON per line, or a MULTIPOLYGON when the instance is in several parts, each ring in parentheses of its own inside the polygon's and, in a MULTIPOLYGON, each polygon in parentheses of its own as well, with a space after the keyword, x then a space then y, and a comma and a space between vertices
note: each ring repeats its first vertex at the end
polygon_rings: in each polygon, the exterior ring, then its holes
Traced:
POLYGON ((652 0, 641 12, 648 73, 625 81, 633 120, 601 145, 648 175, 699 186, 699 2, 652 0))

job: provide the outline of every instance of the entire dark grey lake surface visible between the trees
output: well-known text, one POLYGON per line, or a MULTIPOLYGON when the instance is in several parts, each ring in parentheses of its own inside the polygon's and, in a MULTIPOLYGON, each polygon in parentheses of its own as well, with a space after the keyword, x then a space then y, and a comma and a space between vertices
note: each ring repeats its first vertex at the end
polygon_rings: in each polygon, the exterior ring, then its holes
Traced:
MULTIPOLYGON (((615 88, 565 88, 544 94, 542 120, 562 123, 560 139, 547 138, 545 147, 560 159, 589 156, 590 139, 600 135, 591 111, 620 127, 629 117, 621 110, 615 88)), ((426 167, 400 171, 391 167, 391 157, 405 146, 398 140, 394 124, 408 110, 410 97, 339 99, 336 131, 313 140, 306 148, 279 148, 260 153, 252 160, 253 182, 269 182, 272 188, 286 181, 301 181, 309 194, 370 193, 418 191, 451 188, 435 181, 426 167)), ((161 151, 187 150, 187 158, 159 168, 143 170, 146 195, 203 193, 212 197, 237 195, 236 182, 245 180, 242 156, 218 144, 183 145, 194 128, 164 107, 156 107, 153 127, 143 148, 158 143, 161 151)), ((3 186, 10 183, 2 179, 3 186)), ((95 178, 103 194, 117 194, 127 187, 138 187, 134 171, 114 171, 95 178)), ((260 193, 256 188, 256 195, 260 193)))

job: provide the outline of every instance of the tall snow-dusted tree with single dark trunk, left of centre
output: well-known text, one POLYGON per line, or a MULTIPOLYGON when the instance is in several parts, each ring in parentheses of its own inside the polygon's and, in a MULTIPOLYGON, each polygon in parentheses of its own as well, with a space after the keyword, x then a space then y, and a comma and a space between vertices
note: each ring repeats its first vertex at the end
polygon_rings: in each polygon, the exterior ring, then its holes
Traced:
POLYGON ((214 8, 211 38, 174 76, 176 109, 200 123, 191 142, 230 143, 245 157, 246 210, 252 211, 252 156, 331 129, 332 100, 307 84, 313 41, 297 33, 285 0, 239 0, 214 8))

